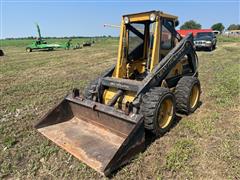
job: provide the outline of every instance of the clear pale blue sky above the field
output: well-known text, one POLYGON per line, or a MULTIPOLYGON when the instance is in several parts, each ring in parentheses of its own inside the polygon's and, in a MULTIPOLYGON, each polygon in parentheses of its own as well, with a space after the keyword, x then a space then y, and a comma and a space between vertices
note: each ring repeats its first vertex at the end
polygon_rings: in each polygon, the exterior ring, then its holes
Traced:
POLYGON ((160 10, 179 17, 180 25, 195 20, 202 28, 214 23, 240 23, 240 0, 0 0, 0 38, 37 36, 118 36, 128 13, 160 10))

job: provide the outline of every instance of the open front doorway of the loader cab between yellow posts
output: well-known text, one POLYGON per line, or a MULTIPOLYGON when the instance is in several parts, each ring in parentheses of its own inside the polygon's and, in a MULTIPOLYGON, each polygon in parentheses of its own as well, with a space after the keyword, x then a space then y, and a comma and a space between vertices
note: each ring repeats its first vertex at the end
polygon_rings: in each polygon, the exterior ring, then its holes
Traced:
POLYGON ((149 70, 156 23, 148 20, 128 23, 125 26, 127 69, 131 71, 131 66, 139 66, 127 75, 130 79, 141 79, 149 70))

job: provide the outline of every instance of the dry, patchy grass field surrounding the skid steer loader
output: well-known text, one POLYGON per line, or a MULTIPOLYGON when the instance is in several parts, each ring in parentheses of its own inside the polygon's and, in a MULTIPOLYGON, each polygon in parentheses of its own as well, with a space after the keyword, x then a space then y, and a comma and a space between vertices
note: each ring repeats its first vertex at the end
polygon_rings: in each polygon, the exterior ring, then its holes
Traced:
MULTIPOLYGON (((202 105, 183 116, 113 179, 240 179, 240 40, 198 52, 202 105)), ((28 42, 2 42, 0 179, 100 179, 40 135, 34 123, 74 87, 115 63, 117 40, 91 48, 26 53, 28 42)))

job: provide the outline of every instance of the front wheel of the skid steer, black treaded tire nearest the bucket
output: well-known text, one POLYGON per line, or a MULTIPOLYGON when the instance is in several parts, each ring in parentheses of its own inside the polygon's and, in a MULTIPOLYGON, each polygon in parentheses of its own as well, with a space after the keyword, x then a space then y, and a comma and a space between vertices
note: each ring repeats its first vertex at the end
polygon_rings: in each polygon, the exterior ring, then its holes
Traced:
POLYGON ((156 136, 170 130, 175 118, 176 101, 168 88, 154 87, 143 95, 140 112, 144 126, 156 136))

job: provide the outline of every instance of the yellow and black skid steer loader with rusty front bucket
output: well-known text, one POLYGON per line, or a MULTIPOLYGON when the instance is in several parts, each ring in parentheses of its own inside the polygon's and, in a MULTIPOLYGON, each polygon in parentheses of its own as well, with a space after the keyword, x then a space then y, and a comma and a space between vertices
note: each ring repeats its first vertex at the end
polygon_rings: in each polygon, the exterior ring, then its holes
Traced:
POLYGON ((176 112, 198 107, 193 36, 182 38, 177 24, 160 11, 124 15, 116 65, 83 93, 74 89, 37 130, 106 176, 129 162, 145 149, 145 130, 163 135, 176 112))

